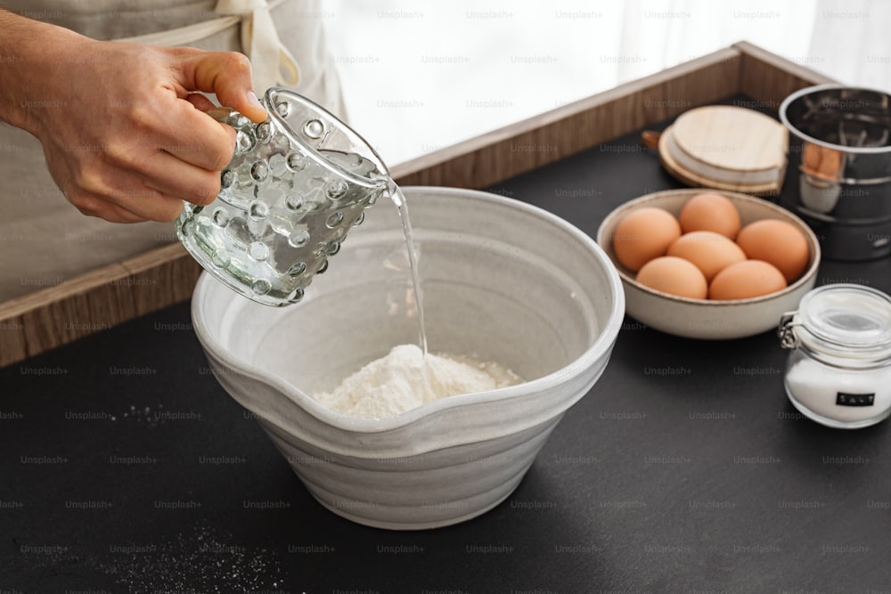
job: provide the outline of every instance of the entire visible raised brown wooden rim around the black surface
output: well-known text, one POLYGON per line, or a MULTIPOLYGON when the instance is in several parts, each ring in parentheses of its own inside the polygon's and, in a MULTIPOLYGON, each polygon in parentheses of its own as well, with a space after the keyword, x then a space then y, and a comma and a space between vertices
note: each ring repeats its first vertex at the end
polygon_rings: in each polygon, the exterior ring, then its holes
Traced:
MULTIPOLYGON (((832 80, 743 42, 391 172, 402 185, 482 189, 732 94, 751 97, 752 107, 778 110, 797 89, 827 82, 832 80)), ((172 244, 0 304, 0 367, 184 301, 199 274, 199 264, 172 244)))

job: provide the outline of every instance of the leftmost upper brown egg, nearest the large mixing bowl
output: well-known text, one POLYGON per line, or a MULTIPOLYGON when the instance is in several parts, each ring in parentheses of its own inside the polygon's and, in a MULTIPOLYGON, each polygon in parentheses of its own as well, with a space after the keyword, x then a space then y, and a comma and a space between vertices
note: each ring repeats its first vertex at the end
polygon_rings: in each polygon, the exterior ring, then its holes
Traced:
POLYGON ((681 225, 664 208, 643 207, 625 215, 613 233, 618 261, 633 271, 658 256, 681 237, 681 225))

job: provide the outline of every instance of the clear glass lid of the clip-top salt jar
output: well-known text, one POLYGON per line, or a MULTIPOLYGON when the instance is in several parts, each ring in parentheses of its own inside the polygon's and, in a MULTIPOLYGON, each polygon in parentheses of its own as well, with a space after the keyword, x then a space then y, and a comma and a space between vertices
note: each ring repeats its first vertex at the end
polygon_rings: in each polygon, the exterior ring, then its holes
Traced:
POLYGON ((875 357, 891 354, 891 297, 855 284, 824 285, 798 305, 797 338, 820 350, 875 357), (809 335, 809 336, 808 336, 809 335))

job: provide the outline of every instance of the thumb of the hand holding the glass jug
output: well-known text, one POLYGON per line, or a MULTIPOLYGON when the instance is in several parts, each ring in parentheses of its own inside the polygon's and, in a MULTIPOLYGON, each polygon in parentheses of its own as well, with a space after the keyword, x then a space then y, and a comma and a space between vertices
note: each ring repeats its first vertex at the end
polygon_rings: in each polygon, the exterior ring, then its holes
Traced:
POLYGON ((217 94, 221 104, 257 123, 268 117, 254 94, 250 61, 243 53, 194 53, 183 62, 183 76, 181 82, 188 91, 217 94))

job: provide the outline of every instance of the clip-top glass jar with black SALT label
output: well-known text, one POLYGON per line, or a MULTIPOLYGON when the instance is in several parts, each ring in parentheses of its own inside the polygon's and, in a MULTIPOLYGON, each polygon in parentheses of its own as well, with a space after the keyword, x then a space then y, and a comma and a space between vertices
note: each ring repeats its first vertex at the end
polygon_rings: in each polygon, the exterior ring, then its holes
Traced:
POLYGON ((791 349, 784 384, 805 417, 869 427, 891 411, 891 297, 855 284, 825 285, 780 322, 791 349))

